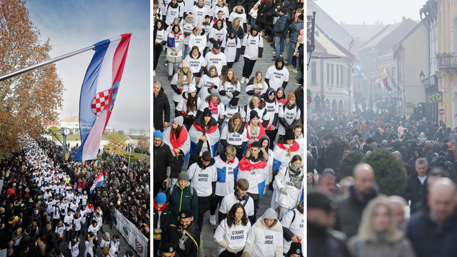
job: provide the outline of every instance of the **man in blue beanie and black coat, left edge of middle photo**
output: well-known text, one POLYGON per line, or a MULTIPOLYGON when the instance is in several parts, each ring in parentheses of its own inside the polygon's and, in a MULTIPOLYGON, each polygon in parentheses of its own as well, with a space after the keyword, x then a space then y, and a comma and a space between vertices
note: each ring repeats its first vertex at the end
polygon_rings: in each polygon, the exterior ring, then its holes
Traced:
POLYGON ((170 167, 173 163, 173 154, 170 146, 163 141, 164 135, 161 131, 154 132, 154 198, 161 188, 161 183, 165 182, 169 186, 170 167))

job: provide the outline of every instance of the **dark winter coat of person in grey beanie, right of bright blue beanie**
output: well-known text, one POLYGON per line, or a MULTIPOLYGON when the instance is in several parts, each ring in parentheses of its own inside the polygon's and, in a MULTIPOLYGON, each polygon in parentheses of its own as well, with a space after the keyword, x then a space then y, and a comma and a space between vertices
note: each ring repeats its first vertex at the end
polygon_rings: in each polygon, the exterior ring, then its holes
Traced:
MULTIPOLYGON (((160 160, 160 159, 156 159, 160 160)), ((155 172, 154 172, 155 173, 155 172)), ((172 186, 173 192, 170 196, 171 187, 166 189, 166 202, 169 203, 170 207, 170 223, 174 224, 178 221, 178 213, 185 208, 189 208, 194 211, 194 221, 199 218, 199 197, 195 188, 189 186, 189 184, 181 188, 176 182, 176 185, 172 186), (194 193, 191 193, 191 190, 194 193)))

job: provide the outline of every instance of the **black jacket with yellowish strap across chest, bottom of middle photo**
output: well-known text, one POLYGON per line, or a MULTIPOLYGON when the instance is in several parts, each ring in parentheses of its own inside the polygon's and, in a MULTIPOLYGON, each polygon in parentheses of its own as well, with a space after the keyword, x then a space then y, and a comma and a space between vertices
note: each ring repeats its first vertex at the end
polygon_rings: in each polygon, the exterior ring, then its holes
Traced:
MULTIPOLYGON (((162 235, 162 241, 173 243, 175 246, 179 246, 179 240, 182 237, 181 226, 179 222, 171 224, 169 228, 166 229, 165 233, 162 235)), ((200 246, 200 233, 199 228, 197 228, 196 223, 192 222, 189 228, 183 230, 186 235, 186 240, 184 241, 184 250, 181 248, 176 247, 176 253, 179 256, 183 257, 195 257, 199 253, 199 246, 200 246)))

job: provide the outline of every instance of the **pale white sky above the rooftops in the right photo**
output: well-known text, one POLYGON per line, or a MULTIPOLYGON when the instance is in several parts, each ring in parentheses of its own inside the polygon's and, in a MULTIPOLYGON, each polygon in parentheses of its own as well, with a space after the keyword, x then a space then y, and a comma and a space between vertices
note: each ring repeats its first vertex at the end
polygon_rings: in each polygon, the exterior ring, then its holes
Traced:
POLYGON ((419 10, 426 4, 426 0, 318 0, 315 2, 336 22, 343 21, 346 24, 362 24, 363 21, 366 24, 375 24, 376 21, 393 24, 401 21, 402 16, 420 21, 419 10))

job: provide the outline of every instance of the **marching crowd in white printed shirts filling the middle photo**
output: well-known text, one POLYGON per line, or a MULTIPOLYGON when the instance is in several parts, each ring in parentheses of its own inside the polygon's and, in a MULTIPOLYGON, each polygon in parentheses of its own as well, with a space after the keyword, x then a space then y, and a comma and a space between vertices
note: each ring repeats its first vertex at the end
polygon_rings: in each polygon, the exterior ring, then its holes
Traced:
POLYGON ((303 256, 303 15, 301 0, 154 1, 154 256, 303 256))

